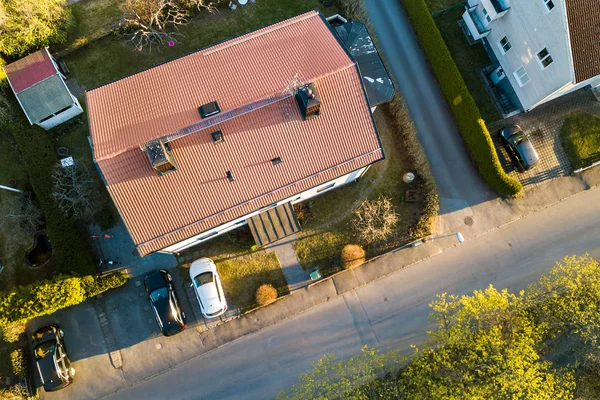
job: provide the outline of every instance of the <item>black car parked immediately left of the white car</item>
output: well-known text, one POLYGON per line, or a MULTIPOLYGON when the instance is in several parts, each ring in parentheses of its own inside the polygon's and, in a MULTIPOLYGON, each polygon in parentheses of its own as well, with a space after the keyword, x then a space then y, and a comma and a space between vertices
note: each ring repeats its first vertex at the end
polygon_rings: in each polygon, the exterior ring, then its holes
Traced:
POLYGON ((171 336, 184 330, 185 313, 179 307, 171 274, 164 269, 154 271, 146 275, 144 286, 163 335, 171 336))

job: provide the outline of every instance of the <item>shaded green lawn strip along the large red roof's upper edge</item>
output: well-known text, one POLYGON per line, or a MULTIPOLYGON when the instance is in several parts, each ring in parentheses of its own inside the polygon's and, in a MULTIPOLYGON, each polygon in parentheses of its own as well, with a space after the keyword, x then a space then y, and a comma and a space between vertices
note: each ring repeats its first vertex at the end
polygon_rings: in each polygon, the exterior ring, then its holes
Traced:
POLYGON ((201 12, 180 27, 183 37, 174 47, 140 52, 126 37, 111 35, 67 55, 65 61, 79 83, 92 89, 315 8, 326 16, 336 13, 334 7, 324 7, 318 0, 259 0, 235 12, 227 8, 214 15, 201 12))

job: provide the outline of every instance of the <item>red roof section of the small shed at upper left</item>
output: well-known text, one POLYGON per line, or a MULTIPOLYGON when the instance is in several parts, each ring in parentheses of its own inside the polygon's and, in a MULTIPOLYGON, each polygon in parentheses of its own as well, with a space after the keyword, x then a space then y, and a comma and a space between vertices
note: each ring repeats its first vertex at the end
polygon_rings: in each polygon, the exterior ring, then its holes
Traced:
POLYGON ((45 48, 8 64, 3 69, 15 93, 56 74, 56 67, 45 48))

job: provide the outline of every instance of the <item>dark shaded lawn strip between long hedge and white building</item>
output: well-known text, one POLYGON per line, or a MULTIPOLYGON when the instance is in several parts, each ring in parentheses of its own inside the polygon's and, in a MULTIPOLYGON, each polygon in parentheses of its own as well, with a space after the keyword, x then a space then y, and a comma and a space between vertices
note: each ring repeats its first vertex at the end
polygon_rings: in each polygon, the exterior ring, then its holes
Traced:
POLYGON ((489 65, 492 62, 482 44, 469 46, 465 34, 457 23, 461 19, 463 12, 464 9, 457 7, 448 13, 436 17, 435 23, 467 84, 469 92, 471 92, 475 103, 477 103, 477 107, 481 111, 481 116, 488 122, 497 121, 500 119, 498 111, 476 72, 478 68, 489 65))

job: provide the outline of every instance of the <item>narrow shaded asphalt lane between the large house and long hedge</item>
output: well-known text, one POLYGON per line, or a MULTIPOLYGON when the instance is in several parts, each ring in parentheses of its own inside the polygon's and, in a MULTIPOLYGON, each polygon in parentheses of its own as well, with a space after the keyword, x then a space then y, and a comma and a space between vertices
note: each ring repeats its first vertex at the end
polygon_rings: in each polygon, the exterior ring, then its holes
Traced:
MULTIPOLYGON (((412 116, 446 208, 473 206, 495 197, 473 168, 437 80, 429 70, 408 17, 397 0, 366 0, 369 17, 412 116), (444 199, 452 199, 445 202, 444 199)), ((466 46, 465 41, 465 46, 466 46)))

